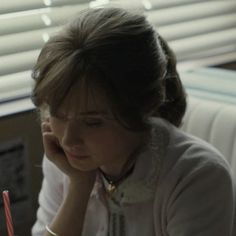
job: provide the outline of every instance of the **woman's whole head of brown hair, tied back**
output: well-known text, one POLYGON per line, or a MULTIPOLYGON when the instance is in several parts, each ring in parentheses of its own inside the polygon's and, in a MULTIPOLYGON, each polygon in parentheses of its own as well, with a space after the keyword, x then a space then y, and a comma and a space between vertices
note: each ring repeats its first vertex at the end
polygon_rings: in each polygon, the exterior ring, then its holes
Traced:
POLYGON ((125 126, 144 129, 150 116, 179 126, 186 95, 176 60, 146 18, 122 8, 87 9, 50 38, 34 67, 32 100, 56 111, 82 80, 100 86, 125 126))

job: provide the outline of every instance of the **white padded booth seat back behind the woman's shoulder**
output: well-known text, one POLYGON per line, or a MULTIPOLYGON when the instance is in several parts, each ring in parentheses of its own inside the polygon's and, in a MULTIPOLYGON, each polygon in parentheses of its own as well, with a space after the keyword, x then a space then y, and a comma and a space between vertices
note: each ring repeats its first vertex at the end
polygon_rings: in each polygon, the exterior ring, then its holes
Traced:
POLYGON ((182 129, 215 146, 232 167, 236 183, 236 106, 188 95, 182 129))

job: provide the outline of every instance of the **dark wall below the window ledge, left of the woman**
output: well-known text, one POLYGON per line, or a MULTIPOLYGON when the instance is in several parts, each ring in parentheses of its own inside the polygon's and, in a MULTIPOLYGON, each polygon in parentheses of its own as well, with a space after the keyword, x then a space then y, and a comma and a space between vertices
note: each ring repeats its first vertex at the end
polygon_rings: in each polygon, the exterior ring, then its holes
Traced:
MULTIPOLYGON (((35 220, 42 155, 40 126, 34 111, 0 118, 0 188, 10 191, 15 234, 19 236, 30 235, 35 220)), ((1 205, 0 235, 7 235, 4 220, 1 205)))

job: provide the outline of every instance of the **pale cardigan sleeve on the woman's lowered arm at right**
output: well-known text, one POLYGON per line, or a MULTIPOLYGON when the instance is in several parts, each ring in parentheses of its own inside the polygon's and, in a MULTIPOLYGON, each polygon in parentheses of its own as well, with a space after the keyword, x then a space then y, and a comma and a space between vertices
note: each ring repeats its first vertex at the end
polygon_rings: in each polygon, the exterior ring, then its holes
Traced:
MULTIPOLYGON (((194 153, 194 152, 193 152, 194 153)), ((233 236, 234 186, 226 163, 207 151, 183 155, 173 167, 162 225, 168 236, 233 236)), ((164 207, 163 207, 164 209, 164 207)))

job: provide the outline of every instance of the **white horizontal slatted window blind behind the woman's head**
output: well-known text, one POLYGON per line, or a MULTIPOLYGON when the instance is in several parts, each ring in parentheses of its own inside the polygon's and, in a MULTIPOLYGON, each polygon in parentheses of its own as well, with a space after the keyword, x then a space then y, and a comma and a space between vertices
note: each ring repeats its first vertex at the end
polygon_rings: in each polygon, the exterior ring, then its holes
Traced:
MULTIPOLYGON (((109 1, 2 0, 0 103, 29 97, 31 69, 50 35, 83 8, 109 1)), ((140 9, 175 51, 180 70, 236 60, 236 1, 120 0, 140 9)))

